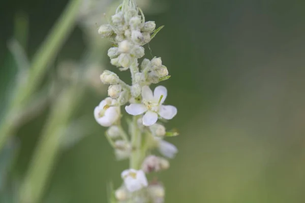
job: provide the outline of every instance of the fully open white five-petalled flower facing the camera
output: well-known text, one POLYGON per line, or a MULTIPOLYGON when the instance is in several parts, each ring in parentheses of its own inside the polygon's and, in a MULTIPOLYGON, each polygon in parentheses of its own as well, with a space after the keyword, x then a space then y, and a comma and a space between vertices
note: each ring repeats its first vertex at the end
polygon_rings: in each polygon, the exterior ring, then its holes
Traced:
POLYGON ((127 113, 131 115, 140 115, 144 112, 143 125, 150 126, 157 122, 158 115, 164 119, 172 119, 177 114, 177 109, 171 105, 162 105, 167 96, 167 89, 164 86, 158 86, 153 91, 148 86, 142 87, 143 104, 130 104, 125 107, 127 113), (162 98, 161 98, 162 97, 162 98))

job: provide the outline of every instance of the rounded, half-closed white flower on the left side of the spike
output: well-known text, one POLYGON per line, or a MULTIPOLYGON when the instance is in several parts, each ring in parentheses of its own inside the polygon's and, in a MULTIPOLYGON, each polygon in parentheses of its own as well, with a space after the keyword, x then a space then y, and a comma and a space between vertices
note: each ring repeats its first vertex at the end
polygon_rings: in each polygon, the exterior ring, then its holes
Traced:
POLYGON ((94 117, 102 126, 111 126, 120 116, 119 107, 110 107, 111 105, 116 105, 116 100, 107 97, 94 109, 94 117))

